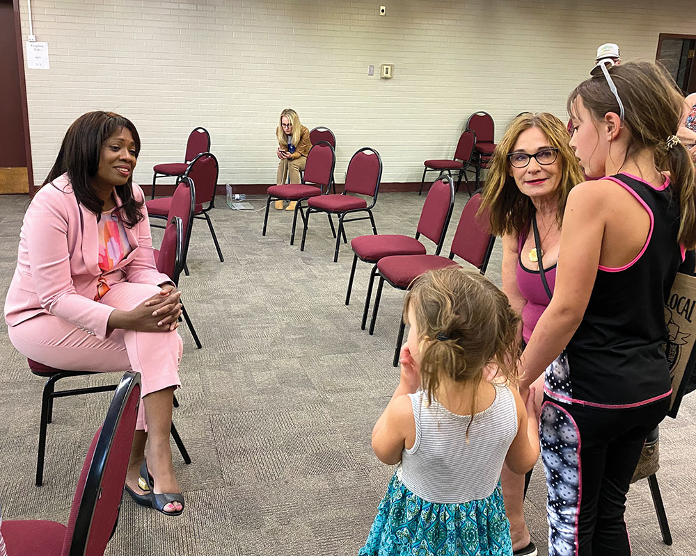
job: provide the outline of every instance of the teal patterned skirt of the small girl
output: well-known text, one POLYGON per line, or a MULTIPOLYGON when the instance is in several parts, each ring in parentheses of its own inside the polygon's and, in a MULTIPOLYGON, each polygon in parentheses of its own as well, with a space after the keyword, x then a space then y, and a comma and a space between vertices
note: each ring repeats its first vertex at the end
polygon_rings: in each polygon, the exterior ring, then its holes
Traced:
POLYGON ((397 473, 358 556, 512 556, 500 483, 482 500, 436 504, 412 493, 397 473))

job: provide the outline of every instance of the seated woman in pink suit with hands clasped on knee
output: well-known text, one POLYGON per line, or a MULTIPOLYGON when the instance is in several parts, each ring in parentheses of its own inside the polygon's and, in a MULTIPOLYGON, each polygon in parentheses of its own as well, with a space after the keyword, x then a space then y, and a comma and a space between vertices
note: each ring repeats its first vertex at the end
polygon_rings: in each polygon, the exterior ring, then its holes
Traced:
POLYGON ((5 320, 17 350, 44 365, 141 373, 126 490, 176 515, 184 498, 169 431, 180 386, 180 293, 155 268, 143 191, 133 183, 139 152, 135 126, 118 114, 90 112, 70 126, 24 215, 5 320))

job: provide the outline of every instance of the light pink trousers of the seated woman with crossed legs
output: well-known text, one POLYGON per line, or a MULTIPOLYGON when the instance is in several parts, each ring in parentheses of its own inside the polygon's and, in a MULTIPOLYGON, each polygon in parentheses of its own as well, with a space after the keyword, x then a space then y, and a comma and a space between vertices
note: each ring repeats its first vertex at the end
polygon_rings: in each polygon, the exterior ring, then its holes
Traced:
MULTIPOLYGON (((120 282, 111 286, 101 302, 130 311, 159 291, 159 286, 120 282)), ((135 370, 141 374, 143 396, 181 386, 179 361, 183 343, 177 331, 116 329, 100 340, 72 322, 53 315, 38 315, 8 327, 8 336, 24 356, 54 368, 117 373, 135 370)), ((143 404, 138 410, 136 428, 147 430, 143 404)))

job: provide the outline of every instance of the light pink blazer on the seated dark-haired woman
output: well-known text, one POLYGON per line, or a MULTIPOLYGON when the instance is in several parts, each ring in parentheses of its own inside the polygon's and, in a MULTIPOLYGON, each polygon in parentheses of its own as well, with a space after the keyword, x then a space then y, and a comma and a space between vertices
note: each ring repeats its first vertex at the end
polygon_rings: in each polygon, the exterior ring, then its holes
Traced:
MULTIPOLYGON (((144 199, 135 183, 136 199, 144 199)), ((116 197, 116 204, 121 205, 116 197)), ((163 284, 171 281, 155 267, 150 222, 125 227, 132 251, 102 275, 98 266, 97 215, 80 206, 67 174, 47 183, 29 204, 19 232, 17 268, 5 300, 5 322, 16 326, 50 314, 104 339, 113 307, 94 301, 97 281, 163 284)))

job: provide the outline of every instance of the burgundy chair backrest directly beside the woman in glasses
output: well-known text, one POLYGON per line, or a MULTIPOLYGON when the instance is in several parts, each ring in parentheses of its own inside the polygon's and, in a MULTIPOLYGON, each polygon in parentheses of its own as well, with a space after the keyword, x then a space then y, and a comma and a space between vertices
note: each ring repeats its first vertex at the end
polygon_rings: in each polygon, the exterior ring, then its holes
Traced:
POLYGON ((454 255, 460 256, 478 268, 481 274, 485 274, 496 236, 491 234, 489 211, 484 210, 480 215, 477 215, 481 202, 482 195, 479 190, 471 195, 471 198, 464 205, 464 210, 461 211, 461 217, 459 217, 457 224, 457 231, 454 232, 452 239, 450 259, 454 255))

